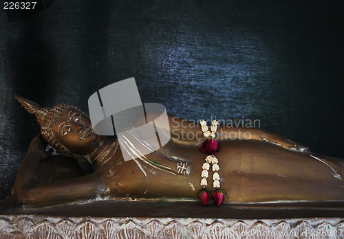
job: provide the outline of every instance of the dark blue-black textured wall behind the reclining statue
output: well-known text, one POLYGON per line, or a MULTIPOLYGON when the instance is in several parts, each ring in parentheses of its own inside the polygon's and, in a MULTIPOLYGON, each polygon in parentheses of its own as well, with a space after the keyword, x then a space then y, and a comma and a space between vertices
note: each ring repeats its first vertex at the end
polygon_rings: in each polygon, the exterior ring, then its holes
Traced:
POLYGON ((55 0, 8 23, 0 11, 0 198, 39 133, 14 93, 87 112, 134 76, 143 102, 186 119, 258 119, 344 158, 343 6, 321 1, 55 0))

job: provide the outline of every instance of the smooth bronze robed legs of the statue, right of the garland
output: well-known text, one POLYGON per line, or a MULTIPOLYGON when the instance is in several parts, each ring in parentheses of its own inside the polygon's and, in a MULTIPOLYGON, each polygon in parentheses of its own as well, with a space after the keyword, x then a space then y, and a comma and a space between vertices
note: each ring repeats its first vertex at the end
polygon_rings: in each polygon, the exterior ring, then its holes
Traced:
POLYGON ((253 140, 221 141, 220 147, 221 187, 230 202, 344 200, 341 159, 253 140))

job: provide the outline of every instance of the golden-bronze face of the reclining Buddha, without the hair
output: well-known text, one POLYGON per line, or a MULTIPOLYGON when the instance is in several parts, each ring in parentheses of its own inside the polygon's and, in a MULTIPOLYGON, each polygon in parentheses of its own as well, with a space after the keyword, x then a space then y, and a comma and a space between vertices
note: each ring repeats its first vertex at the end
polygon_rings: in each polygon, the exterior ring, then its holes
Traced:
POLYGON ((53 122, 56 139, 76 155, 88 155, 100 142, 100 135, 92 130, 91 120, 78 109, 68 108, 53 122))

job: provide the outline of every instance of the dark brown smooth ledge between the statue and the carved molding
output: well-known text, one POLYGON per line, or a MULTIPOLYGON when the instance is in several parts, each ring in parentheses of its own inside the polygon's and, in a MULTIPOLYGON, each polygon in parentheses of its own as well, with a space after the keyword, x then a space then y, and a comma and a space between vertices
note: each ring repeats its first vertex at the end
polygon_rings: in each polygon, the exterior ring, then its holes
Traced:
POLYGON ((45 208, 12 208, 1 207, 1 214, 36 214, 65 217, 175 217, 175 218, 343 218, 342 203, 274 203, 261 205, 222 205, 213 203, 203 207, 199 202, 127 202, 127 201, 94 201, 92 203, 74 203, 71 205, 45 208))

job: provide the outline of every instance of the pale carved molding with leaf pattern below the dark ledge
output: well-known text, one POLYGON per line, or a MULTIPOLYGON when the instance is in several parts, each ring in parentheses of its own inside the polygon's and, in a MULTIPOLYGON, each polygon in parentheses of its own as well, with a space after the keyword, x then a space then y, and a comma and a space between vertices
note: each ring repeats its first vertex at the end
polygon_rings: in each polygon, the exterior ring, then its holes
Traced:
POLYGON ((344 238, 344 219, 0 216, 0 238, 344 238))

